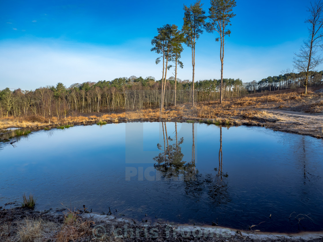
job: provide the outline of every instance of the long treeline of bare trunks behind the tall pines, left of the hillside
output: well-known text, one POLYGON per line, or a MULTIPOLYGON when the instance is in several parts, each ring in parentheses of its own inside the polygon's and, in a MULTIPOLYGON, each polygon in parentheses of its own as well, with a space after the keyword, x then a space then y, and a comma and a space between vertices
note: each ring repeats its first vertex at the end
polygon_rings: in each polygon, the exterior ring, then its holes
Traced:
MULTIPOLYGON (((224 97, 241 96, 246 93, 240 79, 224 79, 224 97)), ((176 101, 192 101, 192 82, 176 81, 176 101)), ((41 115, 44 118, 56 116, 62 120, 70 115, 82 113, 133 110, 157 107, 161 100, 162 80, 154 77, 131 76, 115 78, 112 81, 76 83, 65 87, 46 86, 34 91, 5 88, 0 92, 0 117, 41 115)), ((175 78, 170 77, 165 85, 165 106, 173 105, 175 78)), ((220 80, 200 80, 194 84, 195 101, 219 99, 220 80)))

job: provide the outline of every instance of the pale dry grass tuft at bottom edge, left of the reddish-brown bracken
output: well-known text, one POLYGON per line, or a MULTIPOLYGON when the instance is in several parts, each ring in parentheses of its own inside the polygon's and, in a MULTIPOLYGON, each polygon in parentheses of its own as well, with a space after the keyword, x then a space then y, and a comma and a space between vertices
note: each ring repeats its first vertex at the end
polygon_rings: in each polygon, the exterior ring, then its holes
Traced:
POLYGON ((17 239, 21 242, 32 242, 37 241, 44 235, 44 230, 42 226, 42 220, 38 219, 24 219, 23 225, 17 232, 17 239))

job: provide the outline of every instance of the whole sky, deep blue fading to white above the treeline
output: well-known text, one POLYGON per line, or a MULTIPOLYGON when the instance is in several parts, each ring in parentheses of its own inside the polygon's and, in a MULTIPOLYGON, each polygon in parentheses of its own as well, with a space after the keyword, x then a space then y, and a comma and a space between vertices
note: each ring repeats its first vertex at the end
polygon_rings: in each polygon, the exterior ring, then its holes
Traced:
MULTIPOLYGON (((207 12, 209 1, 201 1, 207 12)), ((226 39, 224 77, 244 82, 293 69, 293 53, 307 38, 308 0, 237 0, 226 39)), ((35 89, 112 80, 161 78, 150 51, 157 28, 181 28, 183 4, 193 1, 0 1, 0 89, 35 89)), ((220 44, 204 33, 196 45, 195 80, 220 78, 220 44)), ((181 79, 192 79, 188 47, 181 79)), ((321 68, 321 67, 320 67, 321 68)), ((319 69, 320 69, 319 68, 319 69)), ((167 77, 172 76, 171 73, 167 77)))

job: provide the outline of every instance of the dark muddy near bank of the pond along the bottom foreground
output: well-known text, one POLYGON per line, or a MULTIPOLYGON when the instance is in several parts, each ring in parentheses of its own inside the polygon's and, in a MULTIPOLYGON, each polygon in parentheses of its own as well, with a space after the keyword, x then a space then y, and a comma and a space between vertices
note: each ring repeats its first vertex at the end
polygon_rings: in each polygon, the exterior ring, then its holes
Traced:
POLYGON ((1 208, 0 241, 219 241, 219 242, 319 242, 323 232, 297 234, 242 231, 217 226, 195 226, 118 219, 68 209, 36 211, 1 208), (62 211, 63 210, 63 211, 62 211), (71 219, 72 218, 72 219, 71 219), (39 222, 40 226, 35 228, 39 222), (126 233, 125 233, 126 231, 126 233), (126 234, 126 236, 125 236, 126 234), (27 240, 25 240, 27 241, 27 240))

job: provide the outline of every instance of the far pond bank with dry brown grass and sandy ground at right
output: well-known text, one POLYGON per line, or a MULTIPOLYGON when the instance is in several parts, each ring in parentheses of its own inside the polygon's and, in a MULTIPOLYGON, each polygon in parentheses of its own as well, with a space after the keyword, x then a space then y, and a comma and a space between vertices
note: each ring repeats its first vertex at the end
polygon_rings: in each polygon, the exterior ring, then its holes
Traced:
POLYGON ((115 118, 115 119, 101 119, 100 117, 92 118, 88 121, 82 122, 68 122, 58 124, 44 124, 27 127, 13 127, 7 128, 5 133, 0 133, 0 142, 11 141, 13 137, 27 135, 30 132, 49 129, 64 129, 64 126, 87 126, 93 124, 112 124, 112 123, 127 123, 127 122, 178 122, 178 123, 205 123, 215 124, 224 127, 233 126, 260 126, 270 128, 274 131, 281 131, 287 133, 295 133, 300 135, 308 135, 315 138, 323 138, 323 115, 303 114, 299 112, 287 112, 276 110, 258 111, 256 115, 251 118, 242 119, 241 117, 228 116, 227 118, 115 118))

